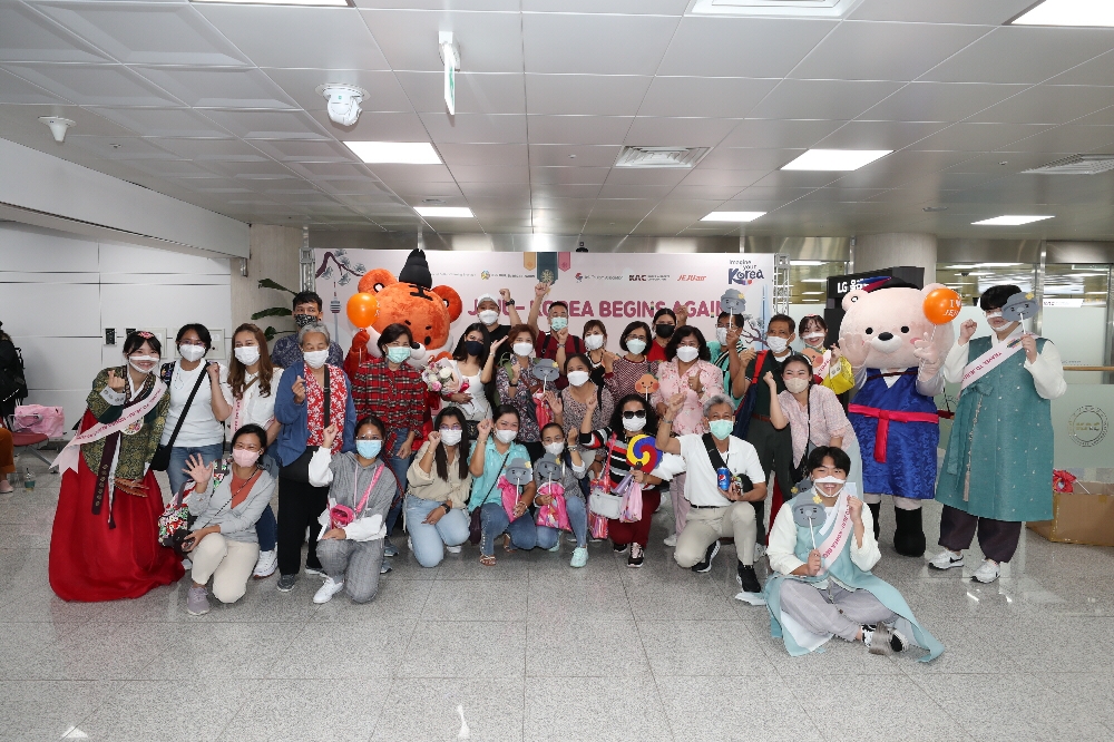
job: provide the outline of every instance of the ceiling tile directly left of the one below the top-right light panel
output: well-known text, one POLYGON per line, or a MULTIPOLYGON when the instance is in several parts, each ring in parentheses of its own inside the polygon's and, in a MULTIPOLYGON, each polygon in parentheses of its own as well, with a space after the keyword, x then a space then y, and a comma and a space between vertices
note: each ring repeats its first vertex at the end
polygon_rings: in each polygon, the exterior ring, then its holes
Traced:
POLYGON ((840 23, 791 72, 813 80, 915 80, 990 29, 932 23, 840 23))

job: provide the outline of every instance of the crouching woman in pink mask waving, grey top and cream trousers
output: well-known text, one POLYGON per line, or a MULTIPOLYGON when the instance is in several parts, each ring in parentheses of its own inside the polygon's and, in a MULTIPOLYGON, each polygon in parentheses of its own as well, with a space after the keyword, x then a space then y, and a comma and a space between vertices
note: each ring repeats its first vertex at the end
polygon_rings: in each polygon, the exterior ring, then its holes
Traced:
POLYGON ((208 466, 201 456, 186 461, 184 473, 194 480, 187 504, 197 515, 194 530, 182 548, 193 559, 194 580, 186 597, 186 611, 199 616, 208 613, 205 585, 213 578, 213 595, 221 603, 235 603, 244 596, 247 579, 260 557, 255 524, 271 502, 275 480, 260 465, 267 449, 267 433, 256 424, 246 424, 232 437, 232 468, 213 476, 216 462, 208 466), (209 495, 209 482, 213 492, 209 495))

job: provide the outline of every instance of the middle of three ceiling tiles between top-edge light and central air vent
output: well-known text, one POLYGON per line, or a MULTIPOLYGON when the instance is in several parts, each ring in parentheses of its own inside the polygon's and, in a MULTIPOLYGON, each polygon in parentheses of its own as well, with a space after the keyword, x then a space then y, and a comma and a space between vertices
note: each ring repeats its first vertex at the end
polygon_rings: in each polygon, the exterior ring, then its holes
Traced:
POLYGON ((776 85, 732 77, 656 77, 638 114, 742 118, 776 85))

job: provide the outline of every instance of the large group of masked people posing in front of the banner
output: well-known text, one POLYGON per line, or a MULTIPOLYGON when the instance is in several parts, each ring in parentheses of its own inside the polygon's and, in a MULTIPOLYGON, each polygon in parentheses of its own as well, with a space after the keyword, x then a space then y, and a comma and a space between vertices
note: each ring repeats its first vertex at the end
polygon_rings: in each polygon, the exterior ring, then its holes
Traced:
MULTIPOLYGON (((709 341, 683 307, 663 309, 653 326, 626 325, 622 353, 613 353, 598 320, 571 334, 560 301, 548 303, 548 329, 539 328, 548 291, 535 287, 526 322, 508 290, 480 296, 479 321, 460 333, 450 361, 461 383, 439 392, 408 362, 417 346, 408 325, 379 333, 378 352, 353 348, 345 359, 312 292, 294 297, 297 331, 270 353, 257 326, 238 326, 227 365, 205 360, 212 339, 199 324, 177 332, 178 359, 163 365, 157 338, 129 334, 126 363, 94 380, 80 430, 58 459, 52 588, 69 601, 137 597, 188 568, 187 609, 201 615, 209 611, 209 584, 227 604, 253 576, 277 572, 277 589, 289 592, 304 572, 323 579, 314 603, 341 592, 364 603, 399 554, 392 539, 400 516, 423 567, 468 541, 479 546, 483 567, 496 566, 500 541, 504 554, 559 551, 566 531, 575 543, 571 567, 587 564, 589 540, 607 538, 638 568, 651 516, 667 492, 673 521, 665 544, 675 547, 675 563, 706 573, 721 539, 733 538, 736 597, 769 606, 773 634, 791 653, 831 636, 873 653, 916 644, 925 660, 942 651, 900 594, 871 574, 881 556, 878 511, 863 508, 859 426, 839 398, 862 369, 825 344, 820 316, 801 321, 798 352, 797 322, 775 314, 755 351, 741 340, 740 314, 722 313, 709 341), (500 322, 502 306, 509 324, 500 322), (556 379, 537 373, 553 364, 556 379), (661 451, 648 471, 627 455, 642 435, 654 436, 661 451), (189 509, 177 553, 158 539, 158 468, 189 509), (768 498, 770 481, 775 491, 768 498), (641 517, 594 511, 594 497, 633 484, 641 517), (763 548, 771 572, 764 587, 755 570, 763 548)), ((998 342, 1016 330, 1003 328, 1001 336, 994 319, 991 325, 998 342)), ((964 325, 946 373, 961 374, 970 329, 964 325)), ((1023 342, 1024 369, 1037 384, 1032 396, 1046 399, 1052 372, 1045 369, 1045 379, 1029 357, 1054 349, 1023 342)), ((1019 381, 1010 373, 1010 383, 1019 381)), ((959 439, 968 437, 954 435, 952 443, 959 439)), ((966 445, 987 445, 974 440, 966 445)), ((961 462, 964 451, 948 456, 961 462)), ((949 476, 941 486, 950 492, 949 476)), ((1000 509, 971 507, 978 497, 967 482, 961 497, 946 500, 946 550, 935 567, 961 564, 976 529, 988 558, 1008 560, 1016 547, 1018 529, 988 520, 1000 509)))

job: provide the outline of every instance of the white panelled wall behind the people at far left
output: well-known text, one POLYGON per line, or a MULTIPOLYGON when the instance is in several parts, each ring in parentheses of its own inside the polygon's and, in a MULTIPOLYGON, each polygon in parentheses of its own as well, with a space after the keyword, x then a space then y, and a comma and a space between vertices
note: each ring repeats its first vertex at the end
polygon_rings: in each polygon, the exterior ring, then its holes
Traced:
POLYGON ((105 328, 235 328, 228 261, 0 223, 0 321, 23 350, 28 402, 65 407, 72 426, 97 372, 121 362, 124 338, 106 345, 105 328))

